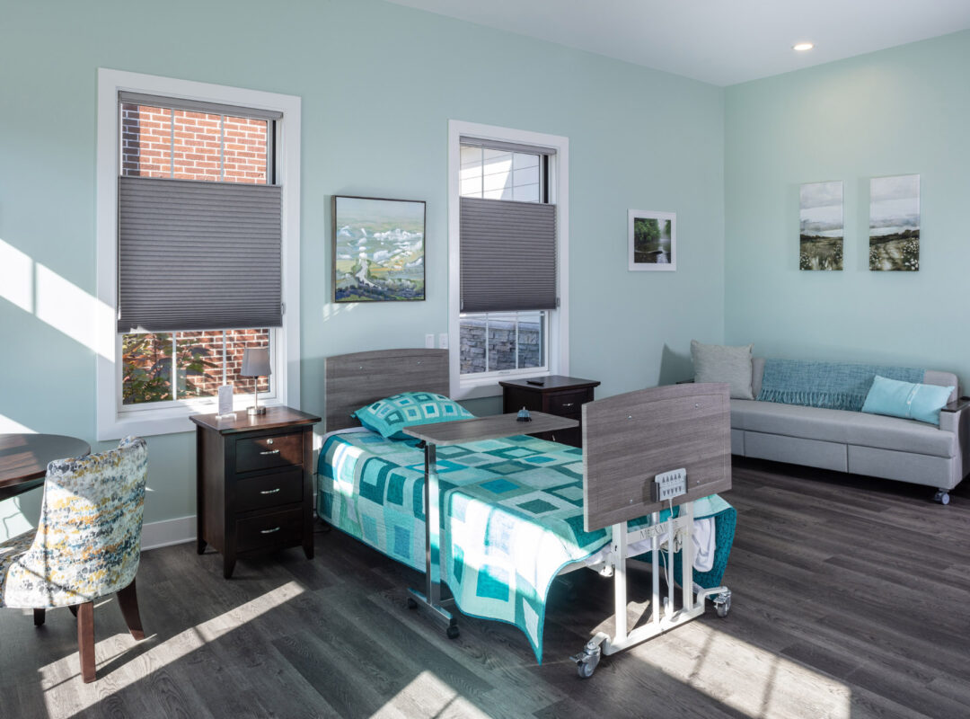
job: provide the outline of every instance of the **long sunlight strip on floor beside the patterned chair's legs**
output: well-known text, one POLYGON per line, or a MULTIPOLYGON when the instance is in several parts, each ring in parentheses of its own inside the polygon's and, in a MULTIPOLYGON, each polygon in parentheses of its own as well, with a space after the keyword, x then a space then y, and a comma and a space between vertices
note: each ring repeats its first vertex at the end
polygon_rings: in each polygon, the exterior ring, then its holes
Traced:
MULTIPOLYGON (((212 617, 208 621, 180 632, 159 642, 157 635, 150 635, 142 642, 135 641, 127 633, 113 637, 99 638, 96 657, 98 680, 91 684, 81 682, 81 668, 78 652, 73 651, 63 659, 52 662, 41 671, 41 689, 50 719, 74 716, 78 712, 111 696, 114 692, 142 681, 152 671, 177 662, 210 641, 224 637, 259 616, 284 605, 304 593, 304 588, 296 581, 287 582, 261 597, 235 606, 227 612, 212 617), (139 651, 143 644, 149 648, 141 654, 126 660, 123 655, 139 651), (69 701, 59 699, 64 692, 69 701), (66 712, 66 713, 65 713, 66 712)), ((106 606, 104 612, 117 611, 106 606)), ((151 632, 152 618, 142 609, 142 622, 146 632, 151 632)), ((98 610, 94 613, 95 637, 97 637, 98 610)))

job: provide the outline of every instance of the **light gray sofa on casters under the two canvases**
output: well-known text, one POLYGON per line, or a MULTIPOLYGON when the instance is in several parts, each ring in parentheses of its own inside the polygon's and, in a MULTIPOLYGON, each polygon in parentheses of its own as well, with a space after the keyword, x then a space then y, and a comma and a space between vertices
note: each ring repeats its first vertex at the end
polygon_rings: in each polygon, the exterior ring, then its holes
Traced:
MULTIPOLYGON (((763 372, 764 359, 755 357, 755 397, 763 372)), ((949 372, 926 371, 923 382, 957 386, 949 372)), ((947 504, 948 491, 970 471, 970 405, 956 399, 954 390, 939 427, 843 409, 731 400, 731 453, 926 484, 947 504)))

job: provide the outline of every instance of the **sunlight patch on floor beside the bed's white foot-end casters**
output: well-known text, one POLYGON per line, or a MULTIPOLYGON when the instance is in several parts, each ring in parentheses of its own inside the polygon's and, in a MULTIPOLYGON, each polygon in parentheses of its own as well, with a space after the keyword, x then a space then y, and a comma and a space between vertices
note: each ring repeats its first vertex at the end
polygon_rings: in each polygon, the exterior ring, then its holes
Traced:
POLYGON ((852 690, 842 682, 705 624, 680 627, 663 651, 638 649, 637 659, 749 717, 852 715, 852 690))

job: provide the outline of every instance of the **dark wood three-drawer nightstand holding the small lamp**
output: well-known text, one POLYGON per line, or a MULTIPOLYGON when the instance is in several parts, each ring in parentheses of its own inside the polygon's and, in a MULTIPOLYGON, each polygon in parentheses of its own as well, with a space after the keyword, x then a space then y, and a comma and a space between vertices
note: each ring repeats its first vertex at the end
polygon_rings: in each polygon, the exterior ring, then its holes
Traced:
POLYGON ((196 424, 197 549, 222 553, 227 579, 236 558, 303 545, 313 558, 313 425, 288 407, 266 414, 189 417, 196 424))

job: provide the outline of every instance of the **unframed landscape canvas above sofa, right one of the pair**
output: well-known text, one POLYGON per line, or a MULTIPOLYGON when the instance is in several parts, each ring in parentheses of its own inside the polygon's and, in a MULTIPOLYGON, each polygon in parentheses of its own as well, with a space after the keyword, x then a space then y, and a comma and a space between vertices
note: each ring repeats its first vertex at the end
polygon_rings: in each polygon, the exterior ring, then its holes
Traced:
POLYGON ((920 271, 920 176, 869 180, 869 269, 920 271))

